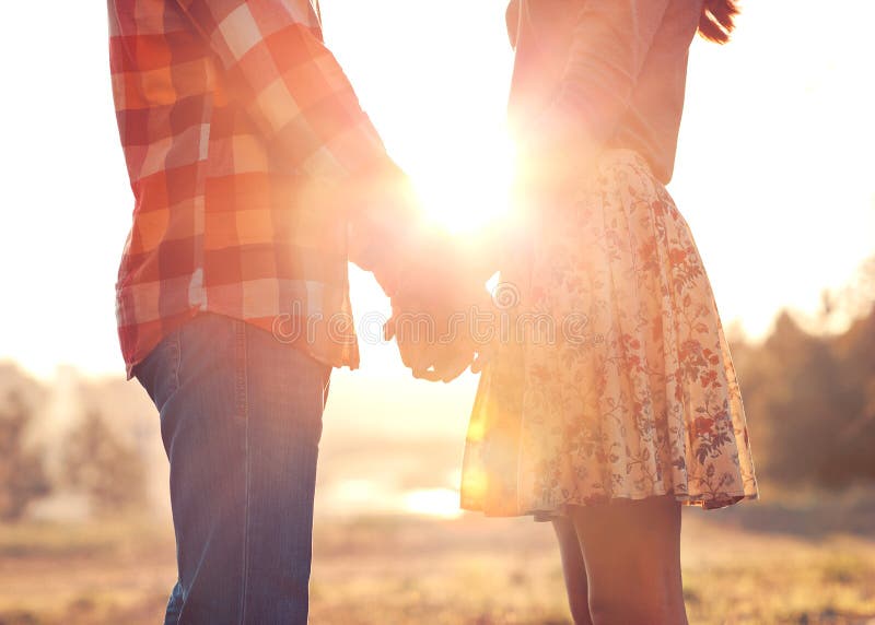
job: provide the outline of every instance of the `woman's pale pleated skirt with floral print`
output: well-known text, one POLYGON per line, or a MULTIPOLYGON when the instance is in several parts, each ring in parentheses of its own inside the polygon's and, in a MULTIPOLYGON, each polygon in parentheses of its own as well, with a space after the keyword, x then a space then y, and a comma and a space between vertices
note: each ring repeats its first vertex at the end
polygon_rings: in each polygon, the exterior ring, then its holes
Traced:
POLYGON ((611 150, 562 198, 539 203, 502 271, 463 508, 549 518, 668 494, 704 508, 756 498, 711 285, 665 187, 611 150))

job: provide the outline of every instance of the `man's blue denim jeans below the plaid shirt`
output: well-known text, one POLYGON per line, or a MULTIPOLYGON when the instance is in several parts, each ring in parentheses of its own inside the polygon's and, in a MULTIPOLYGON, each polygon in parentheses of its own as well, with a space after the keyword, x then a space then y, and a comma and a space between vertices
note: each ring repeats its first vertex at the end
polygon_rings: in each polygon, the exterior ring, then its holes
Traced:
POLYGON ((165 625, 307 622, 330 367, 203 314, 135 368, 161 415, 178 580, 165 625))

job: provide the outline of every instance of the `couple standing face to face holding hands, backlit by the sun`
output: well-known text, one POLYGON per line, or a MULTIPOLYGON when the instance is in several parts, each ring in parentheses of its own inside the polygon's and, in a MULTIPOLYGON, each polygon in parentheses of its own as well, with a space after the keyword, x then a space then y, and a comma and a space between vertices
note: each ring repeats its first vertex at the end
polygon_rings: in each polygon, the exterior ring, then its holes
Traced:
MULTIPOLYGON (((521 210, 476 255, 421 226, 316 1, 108 7, 136 198, 118 331, 171 465, 165 623, 306 622, 323 409, 331 368, 358 363, 351 325, 310 321, 351 318, 350 260, 396 319, 447 321, 500 270, 518 294, 503 314, 586 320, 583 341, 524 332, 477 361, 462 504, 552 522, 575 623, 686 623, 680 506, 757 496, 711 287, 664 187, 690 43, 728 38, 732 0, 512 1, 521 210)), ((420 377, 480 351, 394 326, 420 377)))

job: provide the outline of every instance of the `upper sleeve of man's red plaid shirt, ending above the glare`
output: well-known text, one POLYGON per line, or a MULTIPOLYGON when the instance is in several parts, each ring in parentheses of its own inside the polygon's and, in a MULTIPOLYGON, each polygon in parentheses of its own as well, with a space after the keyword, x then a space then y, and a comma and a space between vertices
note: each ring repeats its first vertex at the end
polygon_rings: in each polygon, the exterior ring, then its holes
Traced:
POLYGON ((290 167, 339 181, 387 158, 308 0, 177 1, 290 167))

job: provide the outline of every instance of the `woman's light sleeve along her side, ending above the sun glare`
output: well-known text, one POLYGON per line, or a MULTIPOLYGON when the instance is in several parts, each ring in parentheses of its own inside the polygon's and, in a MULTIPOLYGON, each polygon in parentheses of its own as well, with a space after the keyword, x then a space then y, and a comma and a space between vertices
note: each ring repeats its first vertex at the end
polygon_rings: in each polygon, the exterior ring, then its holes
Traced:
POLYGON ((596 143, 614 133, 668 2, 587 0, 580 9, 565 69, 547 114, 563 119, 564 131, 570 123, 596 143))

